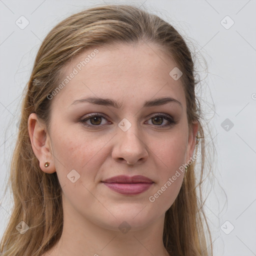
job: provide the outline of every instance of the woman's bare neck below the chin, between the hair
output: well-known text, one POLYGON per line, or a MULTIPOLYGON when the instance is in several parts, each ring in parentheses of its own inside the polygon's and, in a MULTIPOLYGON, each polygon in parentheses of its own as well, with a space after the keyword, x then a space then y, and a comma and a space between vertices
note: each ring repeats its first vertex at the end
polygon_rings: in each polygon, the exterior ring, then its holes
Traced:
POLYGON ((128 230, 124 222, 120 230, 110 230, 77 212, 75 217, 71 210, 63 212, 62 234, 50 250, 51 256, 169 256, 162 241, 164 214, 142 228, 128 230))

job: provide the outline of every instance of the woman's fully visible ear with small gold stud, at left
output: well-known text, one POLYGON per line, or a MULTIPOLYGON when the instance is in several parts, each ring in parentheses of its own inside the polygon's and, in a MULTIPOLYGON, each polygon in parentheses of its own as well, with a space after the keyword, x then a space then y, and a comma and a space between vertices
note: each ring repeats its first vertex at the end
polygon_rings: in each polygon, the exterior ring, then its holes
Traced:
POLYGON ((46 173, 55 172, 50 137, 45 125, 39 122, 35 113, 31 113, 28 117, 27 126, 31 146, 36 158, 39 160, 41 170, 46 173), (49 162, 48 167, 44 166, 46 161, 49 162))

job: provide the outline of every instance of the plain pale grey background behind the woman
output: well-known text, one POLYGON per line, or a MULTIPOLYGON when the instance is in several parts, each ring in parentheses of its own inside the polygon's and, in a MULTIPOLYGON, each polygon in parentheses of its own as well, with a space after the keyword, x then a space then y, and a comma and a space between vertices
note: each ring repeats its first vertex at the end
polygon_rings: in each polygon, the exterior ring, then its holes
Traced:
MULTIPOLYGON (((56 23, 82 8, 127 2, 0 0, 0 197, 16 140, 22 89, 41 41, 56 23), (15 23, 21 15, 29 21, 24 29, 15 23)), ((215 146, 211 153, 215 178, 205 186, 205 192, 210 191, 205 211, 214 255, 256 255, 255 0, 129 3, 143 5, 170 22, 196 53, 209 150, 212 142, 215 146)), ((10 217, 9 196, 0 205, 0 237, 10 217)))

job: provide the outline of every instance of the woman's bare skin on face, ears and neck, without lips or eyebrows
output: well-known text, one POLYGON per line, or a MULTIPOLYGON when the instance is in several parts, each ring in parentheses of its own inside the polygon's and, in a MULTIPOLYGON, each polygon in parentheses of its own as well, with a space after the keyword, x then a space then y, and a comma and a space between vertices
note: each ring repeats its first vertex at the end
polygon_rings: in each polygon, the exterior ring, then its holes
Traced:
MULTIPOLYGON (((93 48, 94 49, 94 48, 93 48)), ((70 74, 93 49, 73 58, 65 67, 70 74)), ((51 99, 49 127, 35 113, 28 119, 32 149, 40 168, 56 171, 62 187, 63 232, 46 255, 169 255, 163 246, 164 213, 175 200, 184 173, 154 202, 154 195, 178 167, 193 155, 198 123, 188 128, 185 94, 181 79, 169 75, 176 66, 155 44, 119 44, 97 47, 99 52, 51 99), (150 46, 150 47, 149 47, 150 46), (122 102, 121 108, 76 99, 98 96, 122 102), (173 97, 180 101, 142 107, 145 100, 173 97), (88 113, 100 113, 98 121, 80 121, 88 113), (168 120, 153 120, 166 113, 168 120), (126 118, 126 131, 118 123, 126 118), (99 128, 96 124, 99 123, 99 128), (94 124, 94 126, 93 126, 94 124), (50 162, 44 167, 44 162, 50 162), (72 183, 67 174, 80 177, 72 183), (137 195, 123 195, 101 181, 120 174, 144 175, 154 183, 137 195), (126 233, 118 226, 126 221, 126 233)), ((61 80, 62 81, 62 80, 61 80)))

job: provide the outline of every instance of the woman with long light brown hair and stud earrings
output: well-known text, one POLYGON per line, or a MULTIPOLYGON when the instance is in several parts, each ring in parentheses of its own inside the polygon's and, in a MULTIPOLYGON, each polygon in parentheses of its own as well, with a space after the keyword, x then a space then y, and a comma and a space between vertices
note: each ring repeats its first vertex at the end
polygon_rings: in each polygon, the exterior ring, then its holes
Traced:
POLYGON ((137 7, 57 24, 23 99, 2 255, 212 255, 195 84, 181 35, 137 7))

